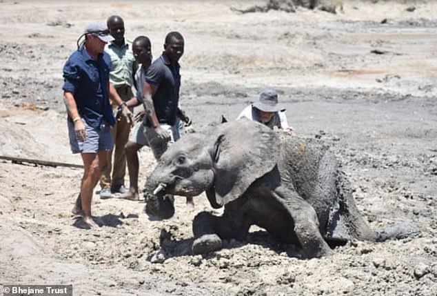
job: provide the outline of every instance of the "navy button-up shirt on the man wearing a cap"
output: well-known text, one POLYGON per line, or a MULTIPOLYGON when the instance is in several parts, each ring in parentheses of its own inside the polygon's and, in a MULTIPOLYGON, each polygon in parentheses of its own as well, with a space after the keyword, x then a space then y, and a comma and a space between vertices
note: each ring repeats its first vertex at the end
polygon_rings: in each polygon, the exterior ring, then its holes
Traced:
POLYGON ((108 53, 103 52, 94 60, 83 46, 63 66, 62 89, 74 94, 79 115, 97 130, 102 124, 115 124, 108 94, 110 69, 108 53))

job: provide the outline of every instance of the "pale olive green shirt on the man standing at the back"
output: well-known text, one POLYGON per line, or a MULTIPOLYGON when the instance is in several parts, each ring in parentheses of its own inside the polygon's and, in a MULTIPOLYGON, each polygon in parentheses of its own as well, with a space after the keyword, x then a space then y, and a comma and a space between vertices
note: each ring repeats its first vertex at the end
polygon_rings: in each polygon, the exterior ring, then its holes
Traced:
POLYGON ((138 64, 132 53, 132 42, 125 40, 125 44, 120 48, 110 42, 105 52, 108 52, 111 57, 110 81, 114 87, 134 86, 134 75, 138 64))

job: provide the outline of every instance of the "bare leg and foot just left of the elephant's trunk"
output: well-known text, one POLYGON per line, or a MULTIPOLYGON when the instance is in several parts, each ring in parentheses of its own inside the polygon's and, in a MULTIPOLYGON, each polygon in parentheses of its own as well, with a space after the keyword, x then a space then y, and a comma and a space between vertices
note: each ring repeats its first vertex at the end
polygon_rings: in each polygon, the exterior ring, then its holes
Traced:
POLYGON ((116 196, 121 199, 139 200, 138 193, 138 175, 139 175, 139 159, 138 151, 143 145, 137 144, 134 141, 128 141, 125 146, 126 161, 128 162, 129 172, 129 190, 122 195, 116 196))

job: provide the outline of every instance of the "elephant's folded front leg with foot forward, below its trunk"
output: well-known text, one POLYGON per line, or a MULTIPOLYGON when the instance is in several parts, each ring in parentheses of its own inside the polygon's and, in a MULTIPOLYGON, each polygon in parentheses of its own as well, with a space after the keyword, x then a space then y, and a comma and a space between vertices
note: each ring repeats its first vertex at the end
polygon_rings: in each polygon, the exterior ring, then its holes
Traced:
POLYGON ((221 239, 245 239, 250 226, 243 226, 243 221, 241 222, 234 223, 227 215, 218 217, 207 212, 199 213, 193 221, 193 254, 221 249, 221 239))

